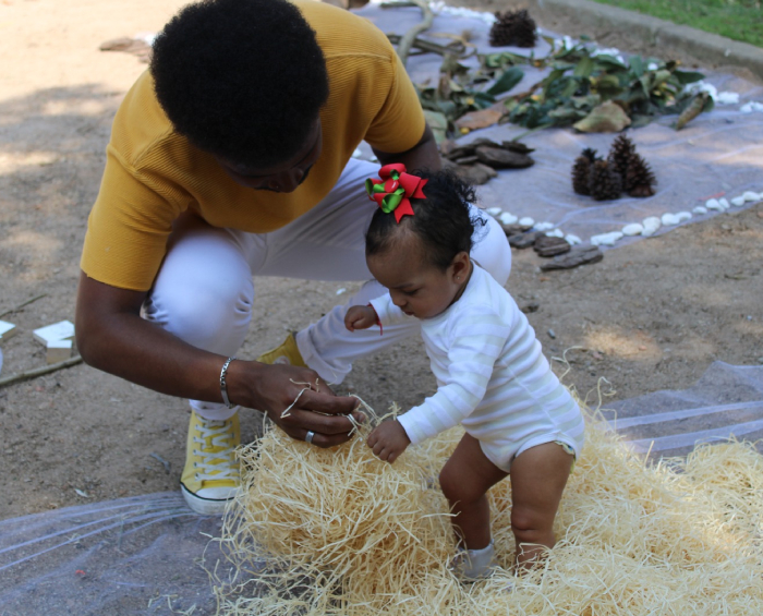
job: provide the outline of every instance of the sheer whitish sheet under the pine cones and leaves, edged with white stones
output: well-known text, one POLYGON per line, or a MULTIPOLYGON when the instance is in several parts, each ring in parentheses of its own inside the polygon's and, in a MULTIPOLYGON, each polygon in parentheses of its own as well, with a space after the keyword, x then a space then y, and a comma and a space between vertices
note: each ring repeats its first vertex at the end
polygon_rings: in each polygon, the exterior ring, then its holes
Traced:
MULTIPOLYGON (((358 13, 388 34, 402 35, 422 20, 417 8, 382 9, 375 3, 367 4, 358 13)), ((532 52, 536 58, 542 58, 550 50, 550 46, 543 40, 531 50, 491 47, 487 21, 468 15, 469 12, 463 10, 456 10, 456 14, 444 12, 435 17, 433 27, 421 36, 443 45, 448 40, 441 37, 443 34, 461 35, 469 31, 469 41, 480 53, 510 50, 525 56, 532 52)), ((483 15, 489 19, 489 14, 483 15)), ((545 34, 561 38, 554 33, 545 34)), ((412 56, 408 61, 408 71, 417 84, 436 84, 441 61, 441 57, 435 53, 412 56)), ((479 67, 476 58, 462 63, 472 69, 479 67)), ((538 69, 524 65, 521 69, 525 72, 524 78, 513 93, 526 90, 544 76, 538 69)), ((528 169, 500 171, 497 178, 480 188, 481 205, 500 207, 520 218, 530 217, 535 222, 549 222, 562 233, 574 234, 588 242, 592 235, 621 231, 626 225, 642 222, 651 216, 688 212, 691 218, 682 221, 682 225, 706 220, 720 210, 710 209, 699 215, 692 210, 704 206, 711 198, 725 197, 730 202, 747 191, 763 193, 763 112, 743 111, 746 104, 763 101, 763 87, 734 75, 704 72, 706 83, 715 86, 718 93, 738 94, 739 102, 716 105, 713 111, 700 114, 681 131, 671 126, 676 116, 664 116, 647 126, 628 131, 638 153, 646 159, 657 178, 654 196, 633 198, 626 195, 615 201, 596 202, 576 194, 571 184, 576 157, 586 147, 593 147, 600 155, 606 156, 616 135, 582 134, 566 128, 545 129, 522 137, 523 143, 535 148, 532 154, 535 165, 528 169)), ((523 133, 526 130, 521 126, 501 124, 473 131, 458 141, 469 143, 477 137, 488 137, 501 142, 523 133)), ((367 147, 363 152, 365 156, 371 153, 367 147)), ((730 212, 750 205, 752 202, 731 206, 730 212)), ((657 234, 675 228, 662 227, 657 234)), ((626 245, 639 239, 642 237, 627 237, 616 245, 626 245)))

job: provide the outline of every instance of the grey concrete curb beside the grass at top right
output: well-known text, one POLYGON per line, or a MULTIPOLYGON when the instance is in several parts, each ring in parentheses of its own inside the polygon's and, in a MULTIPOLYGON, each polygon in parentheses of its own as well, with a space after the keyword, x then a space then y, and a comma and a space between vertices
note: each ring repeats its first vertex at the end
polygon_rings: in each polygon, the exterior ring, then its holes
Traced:
POLYGON ((591 0, 536 0, 536 4, 549 13, 569 15, 581 24, 627 29, 628 34, 657 47, 683 49, 711 67, 744 68, 763 80, 763 49, 754 45, 591 0))

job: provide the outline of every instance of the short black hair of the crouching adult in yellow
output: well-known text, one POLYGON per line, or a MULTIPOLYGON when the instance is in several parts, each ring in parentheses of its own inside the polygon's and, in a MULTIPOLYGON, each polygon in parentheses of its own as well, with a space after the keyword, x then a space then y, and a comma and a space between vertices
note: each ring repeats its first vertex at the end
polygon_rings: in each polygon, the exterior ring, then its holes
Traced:
POLYGON ((156 96, 175 131, 238 165, 293 157, 328 98, 315 32, 286 0, 203 0, 154 44, 156 96))

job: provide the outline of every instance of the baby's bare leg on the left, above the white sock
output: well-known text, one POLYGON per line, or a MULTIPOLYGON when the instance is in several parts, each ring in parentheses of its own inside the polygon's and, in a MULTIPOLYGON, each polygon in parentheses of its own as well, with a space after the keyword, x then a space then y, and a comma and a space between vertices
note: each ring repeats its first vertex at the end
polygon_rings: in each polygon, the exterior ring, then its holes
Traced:
POLYGON ((456 514, 453 530, 462 547, 482 549, 491 543, 485 493, 507 475, 485 457, 476 438, 463 435, 439 475, 443 493, 456 514))

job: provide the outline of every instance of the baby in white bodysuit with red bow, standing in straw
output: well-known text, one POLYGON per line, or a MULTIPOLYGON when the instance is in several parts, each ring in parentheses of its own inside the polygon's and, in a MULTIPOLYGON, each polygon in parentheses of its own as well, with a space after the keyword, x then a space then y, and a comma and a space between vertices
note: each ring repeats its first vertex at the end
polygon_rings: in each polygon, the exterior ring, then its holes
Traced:
POLYGON ((350 331, 402 319, 421 321, 437 391, 386 421, 367 444, 393 462, 411 444, 459 423, 465 434, 439 483, 451 511, 465 580, 496 566, 486 493, 511 478, 516 566, 530 567, 555 543, 554 519, 576 457, 583 418, 541 352, 511 295, 470 259, 475 227, 485 219, 474 191, 452 173, 405 172, 387 165, 367 180, 379 205, 366 233, 372 275, 389 292, 351 306, 350 331))

